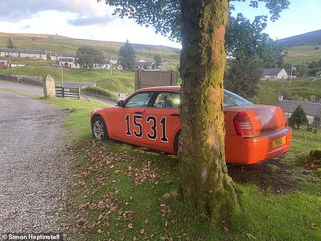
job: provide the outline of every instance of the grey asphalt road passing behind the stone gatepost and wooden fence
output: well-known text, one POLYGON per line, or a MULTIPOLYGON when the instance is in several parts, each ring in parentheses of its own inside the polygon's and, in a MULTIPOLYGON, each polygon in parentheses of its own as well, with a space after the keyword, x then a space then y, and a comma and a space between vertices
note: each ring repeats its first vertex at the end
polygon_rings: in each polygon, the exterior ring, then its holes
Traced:
MULTIPOLYGON (((44 96, 44 89, 43 89, 43 87, 39 87, 39 86, 31 86, 31 85, 25 85, 25 84, 0 80, 0 88, 1 87, 15 89, 15 90, 19 90, 19 91, 28 92, 31 94, 44 96)), ((102 103, 106 106, 112 106, 112 105, 116 104, 115 102, 111 102, 111 101, 107 101, 107 100, 103 100, 103 99, 98 99, 98 98, 94 98, 94 97, 88 97, 88 98, 92 102, 102 103)), ((81 96, 81 99, 87 100, 84 96, 81 96)))

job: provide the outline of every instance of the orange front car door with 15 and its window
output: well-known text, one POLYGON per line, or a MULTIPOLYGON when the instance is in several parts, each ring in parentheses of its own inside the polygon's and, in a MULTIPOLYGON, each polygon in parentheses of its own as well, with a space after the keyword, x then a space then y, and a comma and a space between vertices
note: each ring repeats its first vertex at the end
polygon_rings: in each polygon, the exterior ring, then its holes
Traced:
POLYGON ((143 114, 153 95, 153 91, 137 92, 125 101, 125 106, 117 106, 111 116, 112 131, 116 138, 144 143, 143 114))

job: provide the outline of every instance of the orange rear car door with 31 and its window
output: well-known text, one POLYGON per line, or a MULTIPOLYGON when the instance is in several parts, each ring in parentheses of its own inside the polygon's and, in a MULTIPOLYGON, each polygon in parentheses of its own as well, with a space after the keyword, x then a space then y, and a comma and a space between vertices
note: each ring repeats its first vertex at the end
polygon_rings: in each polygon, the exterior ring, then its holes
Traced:
POLYGON ((178 92, 159 91, 144 113, 145 143, 173 149, 175 132, 180 128, 180 95, 178 92))

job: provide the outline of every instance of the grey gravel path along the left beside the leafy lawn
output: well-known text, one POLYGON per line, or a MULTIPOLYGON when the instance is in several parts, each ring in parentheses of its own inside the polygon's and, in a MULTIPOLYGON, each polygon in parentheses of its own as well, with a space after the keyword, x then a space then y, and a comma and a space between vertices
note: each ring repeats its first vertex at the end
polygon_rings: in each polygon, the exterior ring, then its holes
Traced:
POLYGON ((0 89, 0 234, 62 232, 63 123, 51 105, 0 89))

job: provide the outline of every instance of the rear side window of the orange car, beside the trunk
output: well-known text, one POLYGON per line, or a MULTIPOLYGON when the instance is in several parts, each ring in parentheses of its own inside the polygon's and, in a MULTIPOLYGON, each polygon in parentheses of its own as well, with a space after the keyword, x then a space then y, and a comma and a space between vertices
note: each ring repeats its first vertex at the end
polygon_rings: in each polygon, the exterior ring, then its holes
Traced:
POLYGON ((180 95, 176 92, 160 92, 155 99, 153 107, 178 109, 181 107, 180 95))

